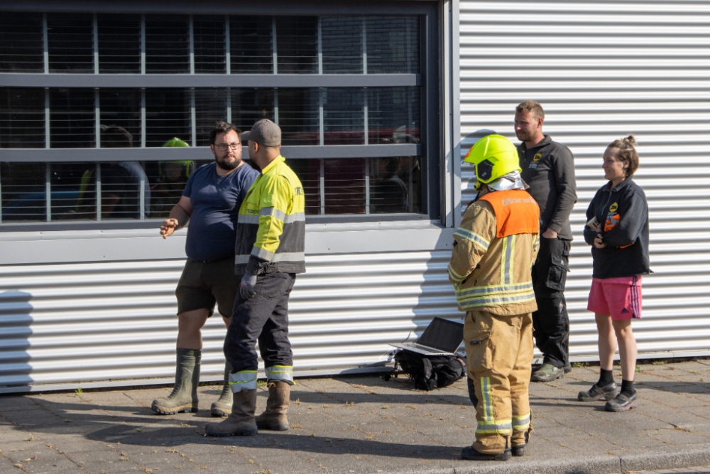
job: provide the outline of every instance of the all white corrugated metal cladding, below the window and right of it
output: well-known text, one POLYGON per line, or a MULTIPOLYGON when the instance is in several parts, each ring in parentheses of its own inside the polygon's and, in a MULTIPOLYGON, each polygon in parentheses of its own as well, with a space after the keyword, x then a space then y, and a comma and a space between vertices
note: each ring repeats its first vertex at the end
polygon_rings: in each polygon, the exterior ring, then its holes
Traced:
MULTIPOLYGON (((514 139, 513 110, 545 106, 545 132, 577 163, 577 241, 567 284, 573 360, 594 360, 589 248, 579 232, 603 185, 601 155, 635 134, 651 212, 641 357, 710 353, 710 4, 460 2, 461 151, 479 129, 514 139)), ((455 16, 454 16, 455 17, 455 16)), ((462 169, 462 200, 472 178, 462 169)), ((413 239, 416 239, 413 231, 413 239)), ((387 343, 457 318, 449 251, 310 255, 290 300, 299 375, 377 370, 387 343)), ((174 374, 182 260, 0 266, 0 392, 141 384, 174 374), (2 387, 5 386, 5 387, 2 387)), ((222 375, 219 318, 203 379, 222 375)))

